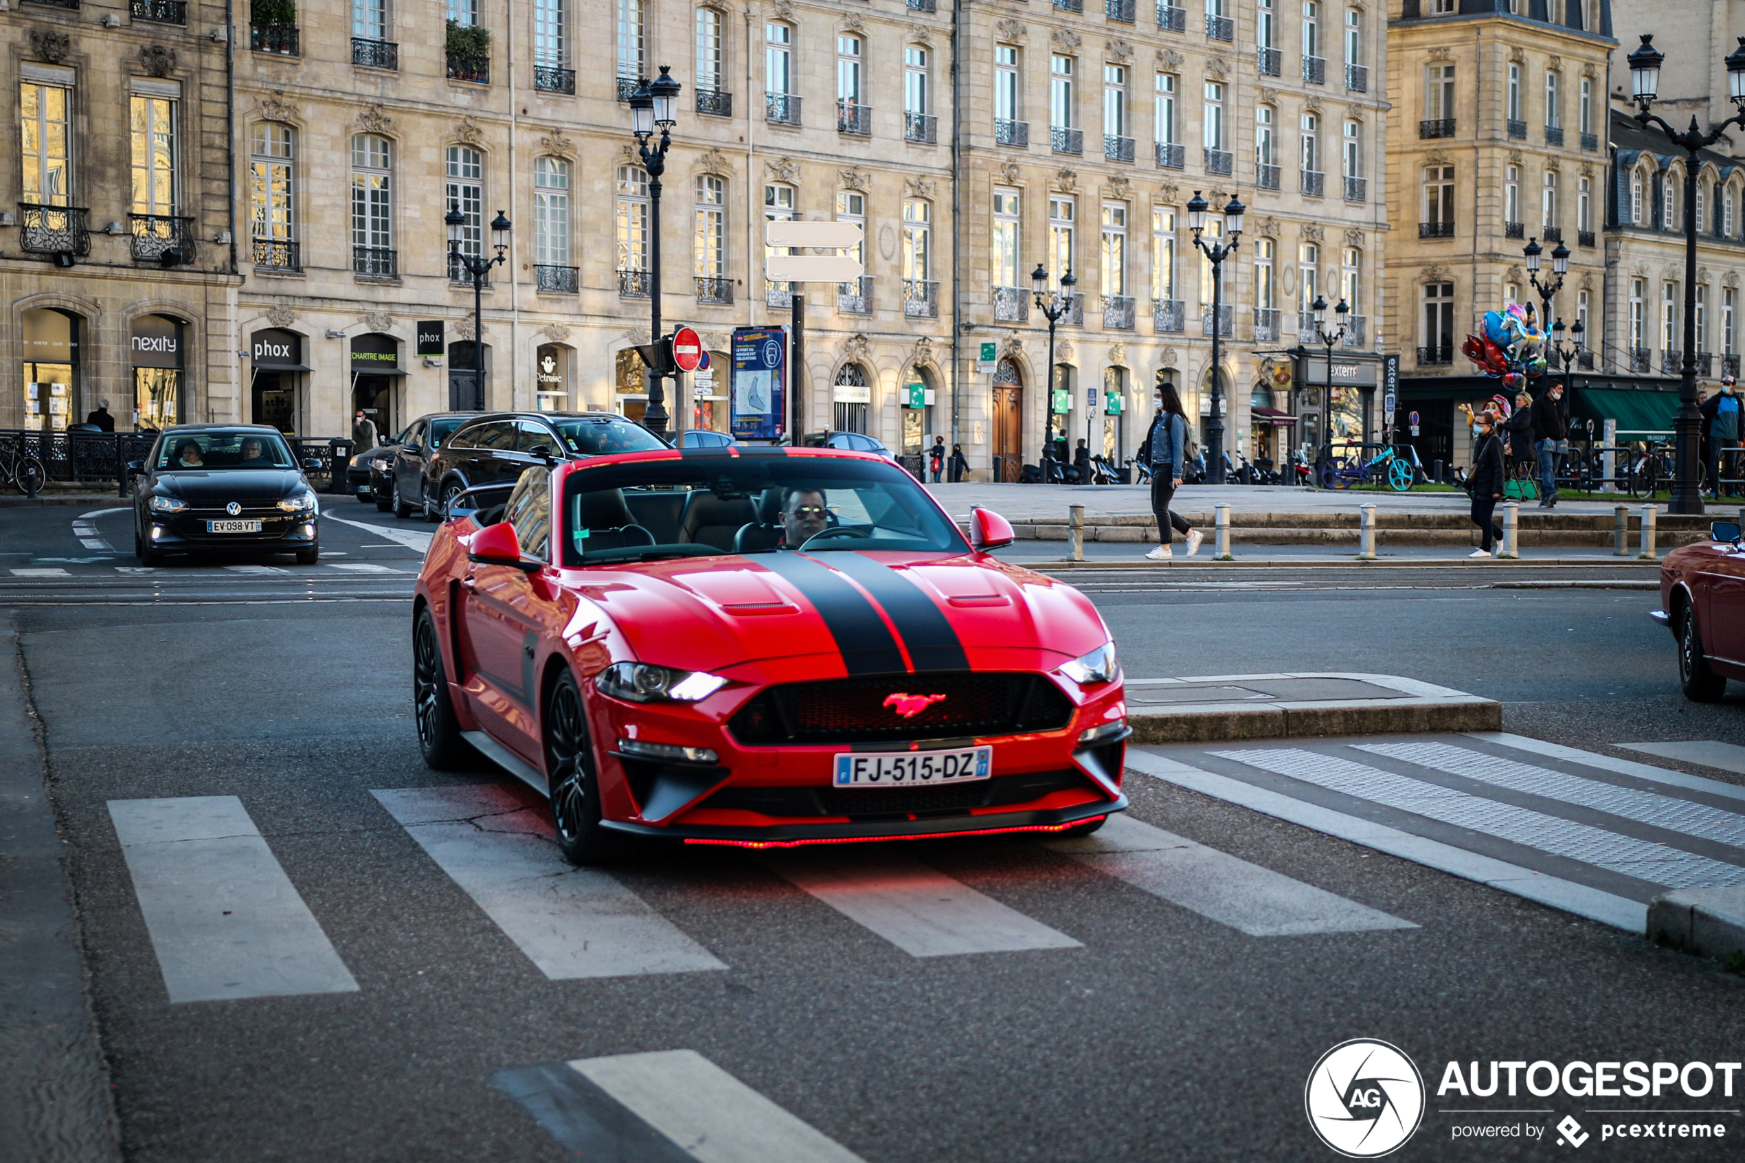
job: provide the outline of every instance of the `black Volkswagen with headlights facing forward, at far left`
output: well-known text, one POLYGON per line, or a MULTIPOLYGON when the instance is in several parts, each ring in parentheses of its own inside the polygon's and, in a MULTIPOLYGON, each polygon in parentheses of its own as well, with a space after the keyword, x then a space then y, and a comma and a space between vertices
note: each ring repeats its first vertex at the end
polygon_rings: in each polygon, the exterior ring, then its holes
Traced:
POLYGON ((321 506, 277 429, 190 424, 166 429, 147 460, 129 466, 133 551, 145 565, 171 553, 250 549, 321 558, 321 506))

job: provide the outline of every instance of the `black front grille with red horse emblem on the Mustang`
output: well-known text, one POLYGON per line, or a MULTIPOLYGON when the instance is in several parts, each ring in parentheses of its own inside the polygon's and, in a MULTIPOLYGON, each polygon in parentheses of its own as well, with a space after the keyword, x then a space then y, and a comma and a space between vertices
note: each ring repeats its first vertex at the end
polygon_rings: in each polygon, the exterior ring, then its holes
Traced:
POLYGON ((899 743, 1059 731, 1071 701, 1044 675, 937 673, 836 678, 770 687, 728 720, 745 745, 899 743), (885 699, 942 694, 913 718, 885 699))

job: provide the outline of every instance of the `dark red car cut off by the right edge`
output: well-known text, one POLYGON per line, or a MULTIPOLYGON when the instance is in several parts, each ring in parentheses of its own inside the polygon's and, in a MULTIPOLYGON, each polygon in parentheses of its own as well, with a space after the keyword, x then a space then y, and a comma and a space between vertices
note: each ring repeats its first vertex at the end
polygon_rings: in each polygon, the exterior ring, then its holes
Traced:
POLYGON ((1708 541, 1680 546, 1659 567, 1653 617, 1679 640, 1679 685, 1719 703, 1728 678, 1745 680, 1745 549, 1738 521, 1714 521, 1708 541))

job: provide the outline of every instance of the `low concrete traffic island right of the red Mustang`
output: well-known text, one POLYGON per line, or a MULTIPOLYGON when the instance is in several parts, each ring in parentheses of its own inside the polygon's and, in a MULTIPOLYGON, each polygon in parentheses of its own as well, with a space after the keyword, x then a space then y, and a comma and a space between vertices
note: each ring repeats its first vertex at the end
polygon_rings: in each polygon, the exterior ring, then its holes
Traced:
POLYGON ((1394 675, 1129 678, 1133 743, 1501 731, 1502 704, 1394 675))

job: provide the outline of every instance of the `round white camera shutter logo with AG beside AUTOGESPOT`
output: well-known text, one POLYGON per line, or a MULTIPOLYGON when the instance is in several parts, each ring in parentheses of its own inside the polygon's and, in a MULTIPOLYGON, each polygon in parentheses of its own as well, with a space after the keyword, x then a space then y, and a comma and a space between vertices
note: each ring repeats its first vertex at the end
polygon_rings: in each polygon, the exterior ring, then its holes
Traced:
POLYGON ((1321 1055, 1304 1086, 1309 1126, 1349 1160, 1398 1151, 1424 1118, 1424 1078, 1398 1046, 1352 1037, 1321 1055))

